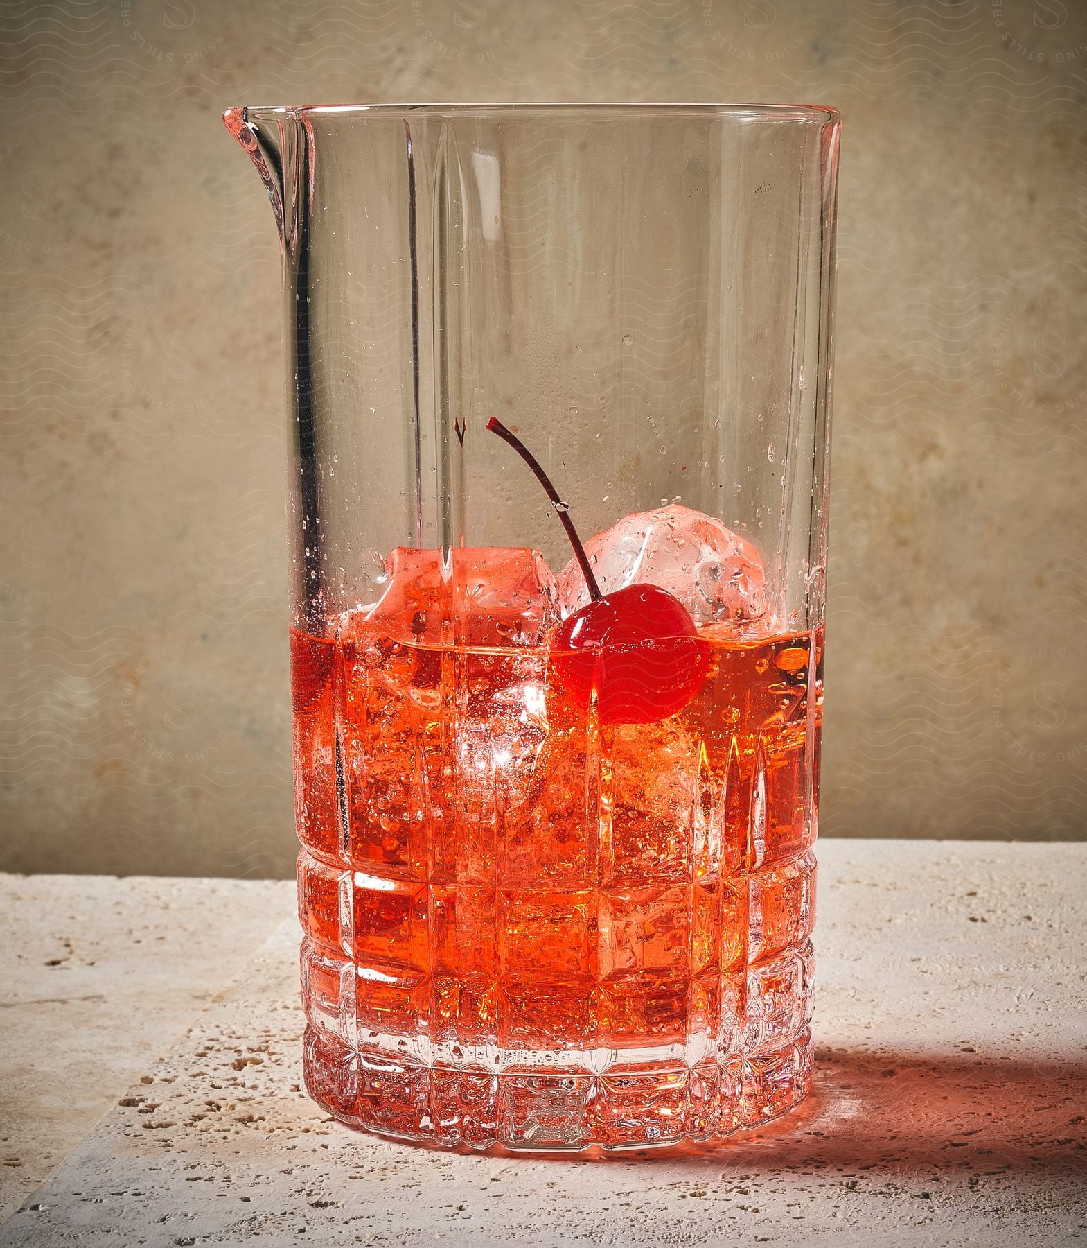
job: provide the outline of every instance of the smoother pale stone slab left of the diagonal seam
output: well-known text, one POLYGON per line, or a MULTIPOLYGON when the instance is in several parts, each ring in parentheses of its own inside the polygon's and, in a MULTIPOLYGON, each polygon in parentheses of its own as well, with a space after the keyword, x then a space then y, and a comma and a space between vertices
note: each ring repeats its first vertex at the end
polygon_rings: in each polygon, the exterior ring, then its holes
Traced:
POLYGON ((271 880, 0 874, 0 1219, 289 914, 271 880))

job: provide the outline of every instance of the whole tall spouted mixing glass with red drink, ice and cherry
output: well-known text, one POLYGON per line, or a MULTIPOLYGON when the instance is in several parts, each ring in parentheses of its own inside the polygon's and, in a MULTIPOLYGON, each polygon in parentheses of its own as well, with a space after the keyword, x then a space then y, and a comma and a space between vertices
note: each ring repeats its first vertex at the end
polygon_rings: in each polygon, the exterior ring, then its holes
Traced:
POLYGON ((812 1080, 838 115, 237 107, 280 228, 305 1080, 475 1148, 812 1080))

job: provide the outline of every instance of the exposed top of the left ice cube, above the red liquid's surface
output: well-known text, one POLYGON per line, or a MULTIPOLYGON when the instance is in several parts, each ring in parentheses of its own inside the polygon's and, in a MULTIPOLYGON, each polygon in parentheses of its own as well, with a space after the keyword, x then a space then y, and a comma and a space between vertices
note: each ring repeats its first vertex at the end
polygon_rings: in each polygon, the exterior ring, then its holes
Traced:
POLYGON ((394 641, 534 646, 558 618, 555 575, 539 550, 455 547, 444 577, 440 550, 396 547, 385 573, 363 622, 394 641))

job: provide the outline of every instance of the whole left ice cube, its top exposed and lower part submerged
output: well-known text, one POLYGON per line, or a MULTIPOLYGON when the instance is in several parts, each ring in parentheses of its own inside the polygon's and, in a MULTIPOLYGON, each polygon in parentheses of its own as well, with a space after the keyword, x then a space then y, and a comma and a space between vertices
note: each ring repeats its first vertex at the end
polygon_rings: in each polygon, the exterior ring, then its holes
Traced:
POLYGON ((495 547, 456 548, 445 567, 440 550, 398 547, 383 580, 339 638, 354 824, 373 831, 370 856, 399 864, 426 810, 486 827, 525 802, 547 736, 540 648, 557 590, 539 552, 495 547))

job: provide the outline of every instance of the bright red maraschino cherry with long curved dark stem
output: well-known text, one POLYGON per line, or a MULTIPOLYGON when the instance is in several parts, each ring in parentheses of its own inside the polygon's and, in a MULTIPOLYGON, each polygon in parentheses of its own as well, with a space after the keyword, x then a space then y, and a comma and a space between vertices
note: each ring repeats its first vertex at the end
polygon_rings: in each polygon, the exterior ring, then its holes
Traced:
POLYGON ((588 706, 595 693, 601 724, 651 724, 674 715, 702 686, 709 665, 709 646, 687 608, 657 585, 601 594, 568 508, 536 457, 494 417, 487 429, 509 442, 536 474, 588 587, 591 602, 567 617, 556 634, 553 679, 580 706, 588 706))

